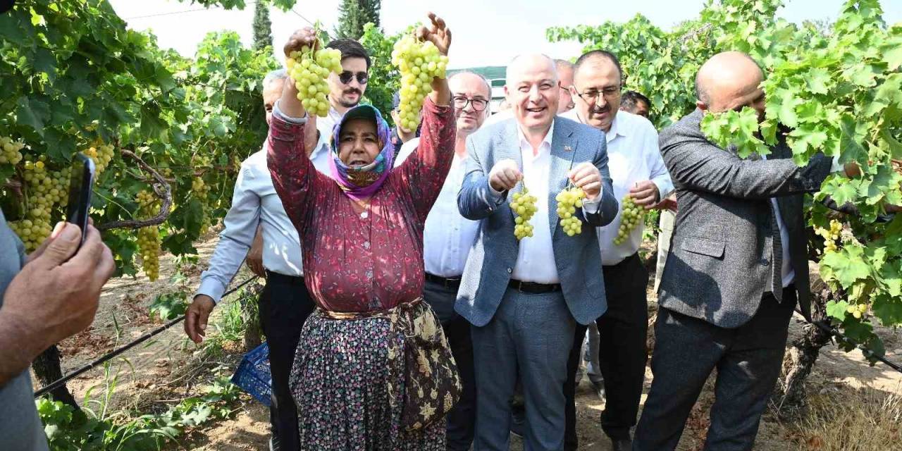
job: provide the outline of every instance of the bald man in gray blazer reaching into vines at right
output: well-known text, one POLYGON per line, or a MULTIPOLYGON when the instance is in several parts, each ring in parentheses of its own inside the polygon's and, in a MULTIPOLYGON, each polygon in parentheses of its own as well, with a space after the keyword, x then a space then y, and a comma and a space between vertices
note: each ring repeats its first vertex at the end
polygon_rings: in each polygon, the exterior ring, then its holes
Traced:
POLYGON ((634 450, 676 448, 714 368, 704 449, 751 449, 796 301, 809 317, 803 194, 820 189, 831 159, 819 154, 800 168, 781 138, 767 157, 741 160, 700 130, 708 111, 750 106, 763 118, 762 79, 748 55, 713 56, 696 77, 698 109, 660 135, 679 210, 658 294, 654 381, 634 450))

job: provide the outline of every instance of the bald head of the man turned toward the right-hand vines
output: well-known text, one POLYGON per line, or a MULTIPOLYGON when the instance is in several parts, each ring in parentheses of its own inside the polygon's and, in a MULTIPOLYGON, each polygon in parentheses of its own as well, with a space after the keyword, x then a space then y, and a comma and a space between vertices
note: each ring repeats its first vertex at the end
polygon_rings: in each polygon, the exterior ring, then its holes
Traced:
POLYGON ((715 113, 750 106, 764 115, 764 73, 740 51, 724 51, 705 61, 695 76, 696 105, 715 113))

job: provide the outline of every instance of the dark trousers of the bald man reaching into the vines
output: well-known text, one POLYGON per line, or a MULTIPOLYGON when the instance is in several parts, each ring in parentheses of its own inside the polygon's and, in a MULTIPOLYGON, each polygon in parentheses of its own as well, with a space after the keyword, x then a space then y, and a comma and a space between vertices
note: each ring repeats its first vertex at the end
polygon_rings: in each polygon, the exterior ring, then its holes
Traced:
POLYGON ((783 290, 782 302, 766 293, 758 312, 736 328, 717 327, 704 319, 659 308, 651 358, 655 382, 642 411, 633 449, 675 449, 689 412, 714 368, 715 400, 704 449, 751 449, 780 373, 794 308, 793 286, 783 290))

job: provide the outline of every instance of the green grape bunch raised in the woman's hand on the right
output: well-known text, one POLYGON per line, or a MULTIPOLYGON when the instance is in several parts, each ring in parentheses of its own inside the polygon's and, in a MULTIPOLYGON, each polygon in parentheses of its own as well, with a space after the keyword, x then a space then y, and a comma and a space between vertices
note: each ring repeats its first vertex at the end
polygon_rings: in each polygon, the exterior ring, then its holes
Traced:
POLYGON ((416 130, 419 110, 432 91, 432 79, 445 78, 448 57, 440 54, 431 41, 408 35, 395 42, 391 64, 400 70, 400 126, 416 130))

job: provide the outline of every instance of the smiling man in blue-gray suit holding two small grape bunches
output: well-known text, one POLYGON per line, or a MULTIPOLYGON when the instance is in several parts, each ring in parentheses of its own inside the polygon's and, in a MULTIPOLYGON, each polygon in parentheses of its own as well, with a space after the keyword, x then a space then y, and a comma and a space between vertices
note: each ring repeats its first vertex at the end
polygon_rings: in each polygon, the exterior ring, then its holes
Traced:
POLYGON ((618 204, 603 132, 555 117, 561 89, 554 61, 514 59, 505 91, 513 118, 467 139, 470 158, 457 196, 461 215, 480 220, 455 306, 474 326, 474 450, 508 449, 518 377, 526 448, 559 450, 576 323, 588 324, 607 308, 594 226, 610 223, 618 204), (586 194, 576 212, 584 226, 574 236, 558 226, 555 201, 568 181, 586 194), (534 235, 518 242, 508 198, 523 187, 538 198, 538 211, 530 220, 534 235))

